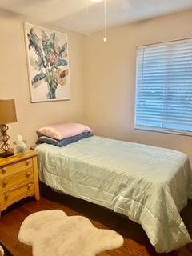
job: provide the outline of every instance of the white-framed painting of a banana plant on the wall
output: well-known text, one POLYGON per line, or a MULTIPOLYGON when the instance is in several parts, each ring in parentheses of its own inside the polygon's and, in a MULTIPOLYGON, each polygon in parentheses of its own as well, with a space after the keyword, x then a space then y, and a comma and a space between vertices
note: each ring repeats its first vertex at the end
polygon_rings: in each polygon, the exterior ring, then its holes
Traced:
POLYGON ((70 99, 66 34, 25 23, 31 102, 70 99))

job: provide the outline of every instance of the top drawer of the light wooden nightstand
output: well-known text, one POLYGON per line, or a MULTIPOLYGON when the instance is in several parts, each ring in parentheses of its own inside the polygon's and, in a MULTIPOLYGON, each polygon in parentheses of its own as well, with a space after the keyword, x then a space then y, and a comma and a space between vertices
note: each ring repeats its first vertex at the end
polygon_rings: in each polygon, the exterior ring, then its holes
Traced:
POLYGON ((10 165, 0 167, 0 178, 5 178, 12 174, 17 174, 22 170, 32 168, 33 162, 32 159, 25 159, 20 162, 12 163, 10 165))

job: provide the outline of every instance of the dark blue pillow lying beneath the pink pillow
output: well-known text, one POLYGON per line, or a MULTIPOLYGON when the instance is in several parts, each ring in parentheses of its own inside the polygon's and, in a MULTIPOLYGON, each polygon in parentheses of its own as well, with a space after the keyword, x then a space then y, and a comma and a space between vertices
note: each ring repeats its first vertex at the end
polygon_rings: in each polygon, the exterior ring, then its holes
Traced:
POLYGON ((88 138, 90 136, 93 136, 94 134, 91 134, 90 132, 85 132, 82 134, 78 134, 69 138, 63 138, 62 140, 58 141, 57 139, 46 137, 46 136, 41 136, 38 138, 36 144, 41 144, 41 143, 47 143, 51 144, 54 146, 66 146, 70 143, 73 142, 78 142, 82 138, 88 138))

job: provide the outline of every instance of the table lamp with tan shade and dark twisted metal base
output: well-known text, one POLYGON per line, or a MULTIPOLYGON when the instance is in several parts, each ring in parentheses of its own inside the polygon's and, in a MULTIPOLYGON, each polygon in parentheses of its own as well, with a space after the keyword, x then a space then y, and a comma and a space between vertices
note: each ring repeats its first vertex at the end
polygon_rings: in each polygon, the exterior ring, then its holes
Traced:
MULTIPOLYGON (((7 158, 14 153, 10 152, 10 144, 7 143, 10 136, 6 134, 9 127, 7 123, 17 122, 14 99, 0 99, 0 132, 2 145, 0 146, 0 158, 7 158)), ((1 143, 0 143, 1 144, 1 143)))

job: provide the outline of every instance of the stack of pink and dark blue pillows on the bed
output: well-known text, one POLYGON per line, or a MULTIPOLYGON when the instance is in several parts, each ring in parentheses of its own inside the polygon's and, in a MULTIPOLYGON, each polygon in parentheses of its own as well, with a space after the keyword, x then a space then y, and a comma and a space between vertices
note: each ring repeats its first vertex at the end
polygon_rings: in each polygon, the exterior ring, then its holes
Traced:
POLYGON ((39 143, 52 144, 54 146, 66 146, 78 142, 82 138, 93 136, 90 127, 80 123, 64 123, 53 126, 45 126, 37 130, 39 143))

